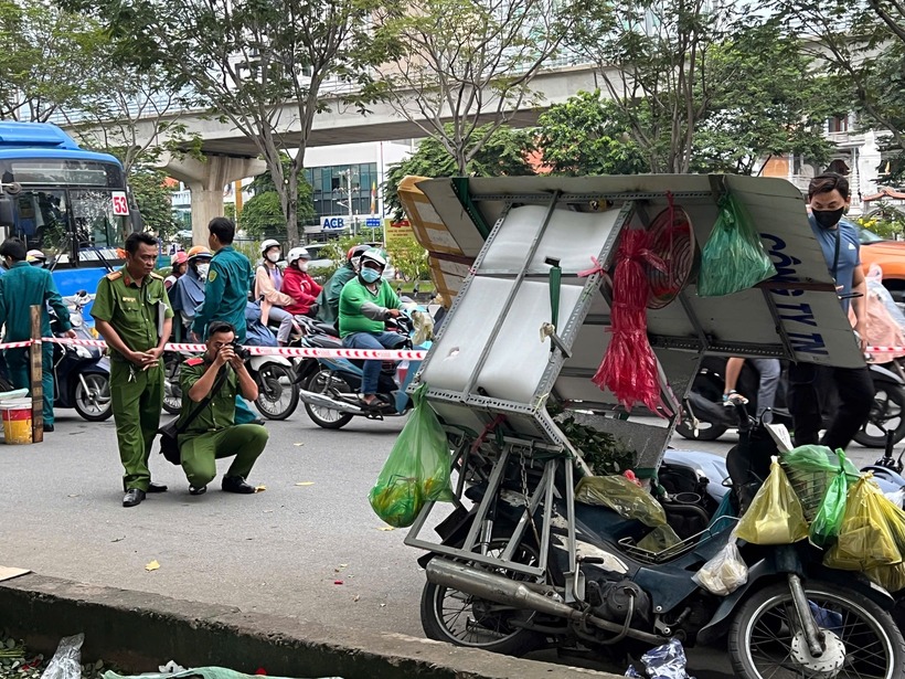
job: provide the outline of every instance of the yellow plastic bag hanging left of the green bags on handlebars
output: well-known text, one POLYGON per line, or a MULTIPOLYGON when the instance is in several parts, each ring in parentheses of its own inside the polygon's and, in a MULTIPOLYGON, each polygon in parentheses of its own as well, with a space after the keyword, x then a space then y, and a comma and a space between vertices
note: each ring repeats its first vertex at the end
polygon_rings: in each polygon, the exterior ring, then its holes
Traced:
POLYGON ((808 537, 801 501, 773 456, 770 475, 742 517, 736 534, 754 544, 791 544, 808 537))

